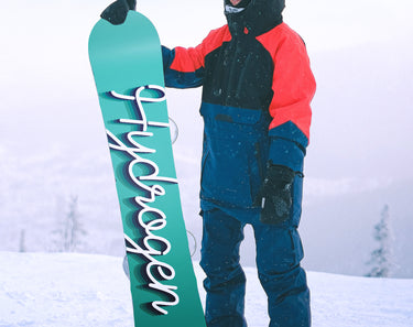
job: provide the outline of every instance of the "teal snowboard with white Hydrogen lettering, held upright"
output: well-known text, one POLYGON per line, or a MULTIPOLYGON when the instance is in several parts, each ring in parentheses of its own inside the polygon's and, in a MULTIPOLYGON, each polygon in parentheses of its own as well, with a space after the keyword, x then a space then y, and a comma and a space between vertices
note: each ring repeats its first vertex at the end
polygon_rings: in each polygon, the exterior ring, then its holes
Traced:
POLYGON ((100 20, 89 59, 121 210, 135 327, 205 327, 172 153, 162 54, 152 23, 100 20))

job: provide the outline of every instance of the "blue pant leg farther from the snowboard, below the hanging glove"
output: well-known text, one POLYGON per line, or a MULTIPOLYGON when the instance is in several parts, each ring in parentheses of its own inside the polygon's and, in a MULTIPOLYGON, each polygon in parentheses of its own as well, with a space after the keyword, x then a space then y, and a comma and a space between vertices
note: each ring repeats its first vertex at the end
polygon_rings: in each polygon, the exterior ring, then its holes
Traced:
POLYGON ((302 177, 295 177, 289 221, 275 226, 253 224, 257 268, 268 296, 270 327, 311 326, 309 291, 305 271, 300 265, 304 252, 297 231, 302 187, 302 177))

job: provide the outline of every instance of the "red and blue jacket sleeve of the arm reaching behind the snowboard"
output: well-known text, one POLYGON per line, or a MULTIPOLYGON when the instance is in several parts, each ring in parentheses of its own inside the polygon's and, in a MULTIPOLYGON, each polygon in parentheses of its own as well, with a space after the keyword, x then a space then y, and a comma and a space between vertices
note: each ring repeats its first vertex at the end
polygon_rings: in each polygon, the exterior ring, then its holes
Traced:
POLYGON ((195 47, 167 48, 162 46, 165 86, 174 88, 192 88, 203 85, 205 57, 230 37, 228 26, 209 32, 207 37, 195 47))

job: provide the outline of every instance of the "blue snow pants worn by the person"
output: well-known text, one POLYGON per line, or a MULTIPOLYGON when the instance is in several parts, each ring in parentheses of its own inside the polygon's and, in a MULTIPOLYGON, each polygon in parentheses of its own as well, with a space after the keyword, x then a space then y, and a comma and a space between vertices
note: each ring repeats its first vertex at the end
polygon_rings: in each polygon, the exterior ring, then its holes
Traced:
MULTIPOLYGON (((298 177, 296 177, 298 178, 298 177)), ((301 179, 301 178, 300 178, 301 179)), ((246 275, 239 249, 250 224, 257 244, 259 280, 268 296, 270 327, 309 327, 309 291, 300 262, 303 248, 297 231, 302 181, 295 181, 292 217, 281 225, 259 221, 259 210, 228 209, 204 203, 200 265, 206 273, 208 327, 247 327, 246 275)))

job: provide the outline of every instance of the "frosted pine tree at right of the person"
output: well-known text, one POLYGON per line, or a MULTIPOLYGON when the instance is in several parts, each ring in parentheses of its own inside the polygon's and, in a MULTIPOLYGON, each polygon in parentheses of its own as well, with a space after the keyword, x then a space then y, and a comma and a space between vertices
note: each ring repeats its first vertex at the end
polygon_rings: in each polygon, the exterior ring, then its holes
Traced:
POLYGON ((379 244, 370 254, 368 265, 371 265, 371 270, 366 276, 389 277, 393 266, 393 251, 388 205, 381 211, 380 222, 374 226, 373 238, 379 244))

